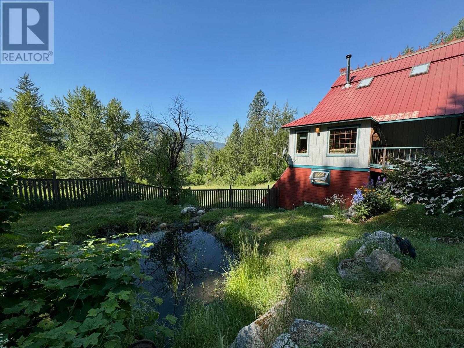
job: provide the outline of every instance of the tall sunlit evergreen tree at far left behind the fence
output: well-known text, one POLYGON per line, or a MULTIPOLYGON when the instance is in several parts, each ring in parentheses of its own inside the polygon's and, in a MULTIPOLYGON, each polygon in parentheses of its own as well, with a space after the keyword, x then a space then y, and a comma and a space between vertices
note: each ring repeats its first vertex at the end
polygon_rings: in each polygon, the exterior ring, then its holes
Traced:
POLYGON ((21 158, 27 177, 50 177, 58 156, 51 113, 29 74, 19 77, 18 86, 12 90, 12 107, 3 120, 9 127, 0 130, 0 153, 21 158))

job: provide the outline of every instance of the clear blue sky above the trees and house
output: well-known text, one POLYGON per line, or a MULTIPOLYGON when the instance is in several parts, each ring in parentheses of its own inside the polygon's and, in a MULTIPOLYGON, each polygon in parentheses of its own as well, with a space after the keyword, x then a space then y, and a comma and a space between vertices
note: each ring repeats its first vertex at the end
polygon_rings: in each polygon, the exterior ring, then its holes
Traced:
MULTIPOLYGON (((55 0, 55 64, 0 65, 1 97, 31 74, 47 103, 83 85, 163 111, 180 94, 226 136, 258 90, 311 111, 345 66, 428 44, 464 1, 55 0)), ((221 139, 222 140, 222 139, 221 139)))

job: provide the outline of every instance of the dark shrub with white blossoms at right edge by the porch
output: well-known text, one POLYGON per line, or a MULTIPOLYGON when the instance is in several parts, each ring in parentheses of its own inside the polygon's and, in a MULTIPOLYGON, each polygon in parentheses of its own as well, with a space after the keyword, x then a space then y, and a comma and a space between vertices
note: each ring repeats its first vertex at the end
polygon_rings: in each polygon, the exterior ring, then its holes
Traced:
POLYGON ((395 160, 387 173, 393 193, 406 204, 423 203, 427 214, 464 215, 464 136, 427 141, 432 154, 395 160))

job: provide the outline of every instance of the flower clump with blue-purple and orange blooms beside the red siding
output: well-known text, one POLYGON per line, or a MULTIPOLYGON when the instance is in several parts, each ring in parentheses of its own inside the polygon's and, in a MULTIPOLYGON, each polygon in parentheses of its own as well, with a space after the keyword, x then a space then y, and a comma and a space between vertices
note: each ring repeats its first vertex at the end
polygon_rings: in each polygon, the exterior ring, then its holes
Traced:
POLYGON ((371 216, 376 216, 392 210, 394 206, 394 199, 390 193, 390 185, 387 179, 377 178, 360 188, 356 188, 353 193, 353 205, 355 211, 355 219, 364 220, 371 216))

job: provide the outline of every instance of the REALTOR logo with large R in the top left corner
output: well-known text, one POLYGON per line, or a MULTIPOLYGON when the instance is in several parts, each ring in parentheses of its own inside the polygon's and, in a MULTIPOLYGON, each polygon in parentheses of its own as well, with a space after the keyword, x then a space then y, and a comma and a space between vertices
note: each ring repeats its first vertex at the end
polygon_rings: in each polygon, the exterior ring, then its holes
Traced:
POLYGON ((0 64, 53 64, 53 1, 0 2, 0 64))

